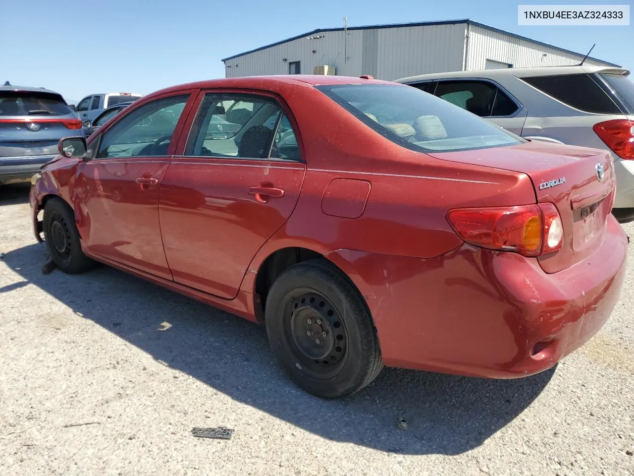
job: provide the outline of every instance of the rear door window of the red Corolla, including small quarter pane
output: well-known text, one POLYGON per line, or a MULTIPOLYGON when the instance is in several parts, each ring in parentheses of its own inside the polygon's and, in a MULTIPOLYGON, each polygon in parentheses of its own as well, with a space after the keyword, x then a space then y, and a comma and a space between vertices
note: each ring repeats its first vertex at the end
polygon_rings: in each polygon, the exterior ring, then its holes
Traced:
POLYGON ((299 156, 297 140, 288 119, 282 119, 280 105, 269 98, 208 93, 200 104, 185 154, 294 159, 299 156))

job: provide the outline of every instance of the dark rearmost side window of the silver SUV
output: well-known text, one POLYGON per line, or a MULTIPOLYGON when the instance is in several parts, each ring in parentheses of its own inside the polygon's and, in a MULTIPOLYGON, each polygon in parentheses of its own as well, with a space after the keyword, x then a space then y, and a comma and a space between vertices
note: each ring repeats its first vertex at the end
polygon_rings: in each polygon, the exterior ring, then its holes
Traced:
POLYGON ((597 114, 622 114, 612 98, 588 74, 522 77, 521 79, 574 109, 597 114))

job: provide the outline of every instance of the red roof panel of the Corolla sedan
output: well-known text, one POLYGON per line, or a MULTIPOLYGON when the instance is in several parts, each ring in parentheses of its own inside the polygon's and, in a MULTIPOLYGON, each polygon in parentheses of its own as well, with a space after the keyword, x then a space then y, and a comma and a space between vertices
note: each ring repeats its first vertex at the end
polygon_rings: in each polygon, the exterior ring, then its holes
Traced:
MULTIPOLYGON (((207 88, 257 88, 257 89, 277 89, 281 84, 327 86, 331 84, 394 84, 391 81, 380 81, 378 79, 361 79, 351 76, 325 76, 317 74, 285 74, 278 76, 241 76, 224 77, 219 79, 208 79, 195 83, 179 84, 169 88, 160 89, 152 93, 153 95, 181 91, 182 89, 207 89, 207 88)), ((147 96, 145 96, 147 97, 147 96)))

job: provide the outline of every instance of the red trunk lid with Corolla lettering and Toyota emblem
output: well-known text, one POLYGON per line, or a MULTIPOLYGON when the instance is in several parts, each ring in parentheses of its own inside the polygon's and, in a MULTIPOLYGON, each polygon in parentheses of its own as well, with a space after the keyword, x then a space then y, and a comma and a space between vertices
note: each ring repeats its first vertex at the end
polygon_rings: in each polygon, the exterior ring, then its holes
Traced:
POLYGON ((531 178, 536 201, 554 204, 564 227, 562 249, 538 258, 545 272, 557 272, 578 263, 602 240, 614 201, 615 185, 611 154, 605 150, 529 142, 512 147, 429 155, 521 172, 531 178), (603 169, 602 180, 598 180, 597 169, 603 169))

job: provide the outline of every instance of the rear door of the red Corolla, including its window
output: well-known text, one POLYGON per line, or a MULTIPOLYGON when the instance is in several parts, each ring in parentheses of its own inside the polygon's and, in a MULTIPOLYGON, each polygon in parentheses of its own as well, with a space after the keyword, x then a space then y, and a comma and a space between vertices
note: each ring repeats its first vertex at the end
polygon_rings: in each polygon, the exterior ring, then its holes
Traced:
POLYGON ((206 91, 198 103, 161 182, 161 235, 174 281, 235 298, 250 261, 295 208, 306 166, 278 98, 206 91), (236 102, 249 114, 227 117, 236 102))

